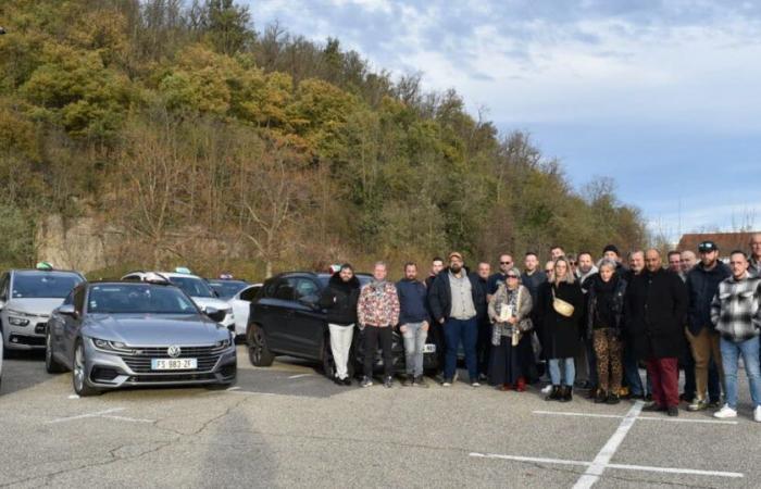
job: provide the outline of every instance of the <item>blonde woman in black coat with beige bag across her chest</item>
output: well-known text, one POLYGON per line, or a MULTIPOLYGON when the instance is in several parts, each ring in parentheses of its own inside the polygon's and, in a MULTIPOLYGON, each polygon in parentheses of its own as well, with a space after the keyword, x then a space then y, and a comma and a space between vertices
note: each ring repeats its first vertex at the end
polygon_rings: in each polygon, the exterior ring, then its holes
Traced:
POLYGON ((539 290, 538 319, 542 348, 549 361, 552 390, 547 401, 569 402, 576 376, 574 356, 579 346, 584 294, 567 259, 554 261, 552 279, 539 290))

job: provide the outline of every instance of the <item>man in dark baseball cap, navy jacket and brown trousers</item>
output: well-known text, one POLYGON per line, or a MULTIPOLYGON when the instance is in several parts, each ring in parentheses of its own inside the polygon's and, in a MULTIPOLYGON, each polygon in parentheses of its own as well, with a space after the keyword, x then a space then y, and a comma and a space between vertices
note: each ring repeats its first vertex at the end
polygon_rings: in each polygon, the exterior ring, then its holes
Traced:
POLYGON ((719 260, 719 247, 715 242, 701 242, 698 246, 698 253, 700 263, 687 274, 689 308, 686 335, 695 359, 697 387, 695 399, 687 406, 688 411, 702 411, 709 405, 707 390, 708 367, 711 360, 719 369, 721 381, 724 381, 719 333, 711 322, 711 301, 719 290, 719 284, 732 275, 729 267, 719 260))

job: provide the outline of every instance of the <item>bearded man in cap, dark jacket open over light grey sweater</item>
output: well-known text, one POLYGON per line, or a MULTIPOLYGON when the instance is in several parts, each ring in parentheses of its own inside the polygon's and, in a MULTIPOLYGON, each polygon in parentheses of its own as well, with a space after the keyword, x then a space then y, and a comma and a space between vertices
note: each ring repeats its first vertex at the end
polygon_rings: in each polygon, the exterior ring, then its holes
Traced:
POLYGON ((442 269, 432 284, 428 303, 434 321, 444 325, 447 353, 442 386, 452 385, 457 351, 462 342, 471 386, 479 387, 476 362, 477 313, 486 303, 486 291, 478 281, 478 275, 470 274, 464 267, 462 253, 449 253, 449 267, 442 269))

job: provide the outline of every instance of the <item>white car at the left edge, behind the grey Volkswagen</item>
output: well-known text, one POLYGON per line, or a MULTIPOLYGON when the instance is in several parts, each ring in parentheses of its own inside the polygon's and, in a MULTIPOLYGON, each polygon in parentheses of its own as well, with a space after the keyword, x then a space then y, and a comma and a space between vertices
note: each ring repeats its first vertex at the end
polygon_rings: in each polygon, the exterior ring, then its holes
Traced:
POLYGON ((0 278, 0 328, 5 350, 43 350, 50 313, 85 281, 77 272, 41 265, 11 269, 0 278))

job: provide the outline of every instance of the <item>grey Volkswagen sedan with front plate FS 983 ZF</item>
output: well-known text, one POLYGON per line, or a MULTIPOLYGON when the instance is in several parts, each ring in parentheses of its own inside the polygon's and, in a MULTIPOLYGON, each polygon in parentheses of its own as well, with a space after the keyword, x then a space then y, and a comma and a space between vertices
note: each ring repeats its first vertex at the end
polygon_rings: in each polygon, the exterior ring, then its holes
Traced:
POLYGON ((82 284, 50 318, 46 368, 73 371, 79 396, 124 386, 226 386, 237 366, 222 314, 202 313, 169 284, 82 284))

